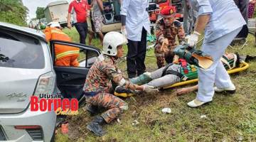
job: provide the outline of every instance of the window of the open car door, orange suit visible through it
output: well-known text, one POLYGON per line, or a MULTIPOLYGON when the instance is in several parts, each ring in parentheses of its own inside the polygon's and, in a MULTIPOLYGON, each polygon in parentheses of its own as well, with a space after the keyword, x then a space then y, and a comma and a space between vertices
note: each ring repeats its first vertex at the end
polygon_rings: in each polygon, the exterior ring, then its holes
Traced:
POLYGON ((90 68, 97 59, 95 50, 79 48, 76 45, 54 43, 55 66, 72 66, 90 68))

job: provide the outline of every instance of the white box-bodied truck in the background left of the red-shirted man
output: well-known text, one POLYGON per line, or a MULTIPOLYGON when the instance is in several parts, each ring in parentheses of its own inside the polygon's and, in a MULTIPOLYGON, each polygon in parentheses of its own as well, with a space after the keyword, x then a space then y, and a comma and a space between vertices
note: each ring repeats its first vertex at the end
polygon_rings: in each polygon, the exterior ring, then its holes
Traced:
POLYGON ((43 10, 48 23, 52 21, 59 22, 61 26, 67 25, 68 19, 68 1, 54 1, 48 4, 43 10))

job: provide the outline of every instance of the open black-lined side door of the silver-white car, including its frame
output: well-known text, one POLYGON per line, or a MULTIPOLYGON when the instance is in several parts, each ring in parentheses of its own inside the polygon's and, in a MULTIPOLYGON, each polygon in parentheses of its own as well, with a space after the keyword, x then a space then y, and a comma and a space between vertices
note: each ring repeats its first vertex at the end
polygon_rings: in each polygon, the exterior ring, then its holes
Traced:
POLYGON ((81 103, 82 98, 84 98, 82 88, 85 84, 85 78, 90 67, 100 55, 100 50, 92 46, 60 40, 51 40, 50 50, 53 57, 57 86, 60 89, 61 95, 69 99, 76 98, 81 103), (77 58, 79 62, 78 67, 55 65, 55 48, 63 45, 69 48, 79 48, 79 56, 77 58))

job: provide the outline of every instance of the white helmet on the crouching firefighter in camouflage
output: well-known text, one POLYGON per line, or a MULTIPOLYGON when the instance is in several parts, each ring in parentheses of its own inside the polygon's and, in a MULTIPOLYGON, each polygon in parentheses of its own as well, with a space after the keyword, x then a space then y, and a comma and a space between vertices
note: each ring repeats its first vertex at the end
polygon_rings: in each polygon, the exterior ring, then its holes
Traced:
POLYGON ((127 44, 128 41, 121 33, 110 31, 104 36, 103 51, 105 55, 117 55, 117 46, 127 44))

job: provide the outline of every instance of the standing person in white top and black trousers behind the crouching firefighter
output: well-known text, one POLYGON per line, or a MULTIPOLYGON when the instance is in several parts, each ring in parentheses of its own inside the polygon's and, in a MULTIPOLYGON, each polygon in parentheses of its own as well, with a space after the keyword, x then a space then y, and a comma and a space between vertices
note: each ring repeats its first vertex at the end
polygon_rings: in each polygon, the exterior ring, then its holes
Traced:
POLYGON ((124 0, 121 4, 121 32, 128 39, 127 73, 136 77, 145 72, 146 32, 150 32, 147 0, 124 0))

